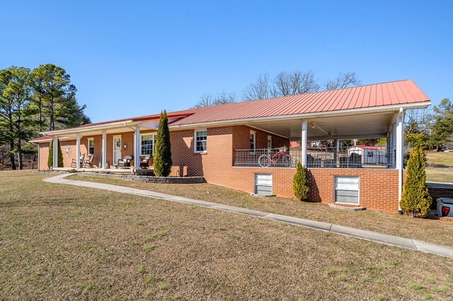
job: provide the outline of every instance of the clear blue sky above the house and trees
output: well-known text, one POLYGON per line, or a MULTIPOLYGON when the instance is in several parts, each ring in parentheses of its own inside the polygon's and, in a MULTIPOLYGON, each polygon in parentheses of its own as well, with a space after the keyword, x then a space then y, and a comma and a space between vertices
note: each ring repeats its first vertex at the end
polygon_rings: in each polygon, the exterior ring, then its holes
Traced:
POLYGON ((53 63, 93 120, 241 95, 258 74, 411 78, 453 98, 453 1, 7 1, 0 68, 53 63))

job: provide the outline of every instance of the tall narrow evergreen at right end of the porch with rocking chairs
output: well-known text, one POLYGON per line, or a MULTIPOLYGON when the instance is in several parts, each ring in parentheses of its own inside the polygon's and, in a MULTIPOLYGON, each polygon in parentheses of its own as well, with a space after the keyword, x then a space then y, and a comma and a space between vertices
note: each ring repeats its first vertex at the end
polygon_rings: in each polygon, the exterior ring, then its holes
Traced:
POLYGON ((156 149, 154 152, 154 173, 157 177, 167 177, 171 172, 170 130, 168 129, 167 113, 161 112, 157 128, 156 149))

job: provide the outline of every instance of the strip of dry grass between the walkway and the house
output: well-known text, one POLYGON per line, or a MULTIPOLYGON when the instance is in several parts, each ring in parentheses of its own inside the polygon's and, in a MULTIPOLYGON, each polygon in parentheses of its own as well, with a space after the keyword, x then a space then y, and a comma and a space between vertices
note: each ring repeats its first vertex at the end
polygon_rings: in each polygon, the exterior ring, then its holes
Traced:
MULTIPOLYGON (((426 242, 453 247, 453 223, 447 220, 409 218, 398 214, 378 211, 342 211, 323 203, 307 203, 280 197, 263 198, 242 191, 227 189, 212 184, 156 184, 132 182, 124 179, 71 175, 69 179, 102 182, 125 187, 147 189, 165 194, 185 196, 203 201, 213 201, 270 213, 308 218, 326 223, 335 223, 353 228, 382 232, 390 235, 415 238, 426 242)), ((195 208, 196 206, 190 207, 195 208)), ((324 233, 323 235, 330 235, 324 233)))

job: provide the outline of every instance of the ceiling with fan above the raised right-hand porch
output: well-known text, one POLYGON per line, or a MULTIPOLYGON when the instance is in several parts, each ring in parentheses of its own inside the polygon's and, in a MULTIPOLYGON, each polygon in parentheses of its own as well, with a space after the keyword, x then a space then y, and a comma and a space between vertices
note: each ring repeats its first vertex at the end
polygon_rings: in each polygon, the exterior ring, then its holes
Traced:
MULTIPOLYGON (((395 112, 357 114, 341 117, 321 117, 307 119, 308 139, 349 139, 349 138, 381 138, 386 137, 395 112), (316 126, 313 128, 312 123, 316 126), (321 130, 322 129, 322 130, 321 130), (330 137, 327 133, 332 133, 330 137)), ((281 122, 256 122, 250 124, 263 131, 285 136, 289 140, 300 140, 302 136, 302 120, 281 122)))

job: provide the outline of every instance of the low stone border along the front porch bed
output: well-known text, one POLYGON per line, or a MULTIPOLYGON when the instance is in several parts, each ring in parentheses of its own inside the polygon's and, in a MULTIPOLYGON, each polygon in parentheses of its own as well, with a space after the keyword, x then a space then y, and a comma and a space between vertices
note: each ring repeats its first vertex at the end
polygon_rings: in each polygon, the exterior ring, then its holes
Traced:
POLYGON ((143 175, 103 174, 96 172, 76 172, 74 173, 74 175, 86 175, 89 177, 107 177, 113 179, 127 179, 129 181, 145 183, 198 184, 206 182, 204 177, 155 177, 143 175))

